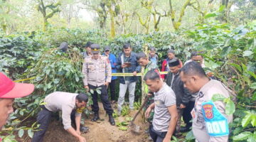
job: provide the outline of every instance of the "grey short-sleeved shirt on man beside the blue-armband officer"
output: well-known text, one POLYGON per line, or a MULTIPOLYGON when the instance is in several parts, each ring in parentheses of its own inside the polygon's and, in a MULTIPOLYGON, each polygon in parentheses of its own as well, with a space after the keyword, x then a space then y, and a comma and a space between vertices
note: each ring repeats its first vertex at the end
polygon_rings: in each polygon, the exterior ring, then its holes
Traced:
POLYGON ((168 131, 171 120, 168 107, 176 104, 176 97, 171 87, 164 83, 159 92, 155 93, 154 103, 154 130, 161 132, 168 131))

